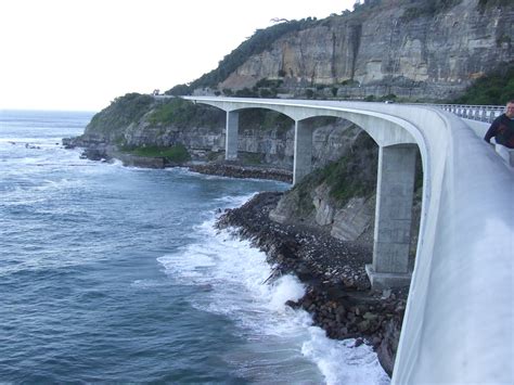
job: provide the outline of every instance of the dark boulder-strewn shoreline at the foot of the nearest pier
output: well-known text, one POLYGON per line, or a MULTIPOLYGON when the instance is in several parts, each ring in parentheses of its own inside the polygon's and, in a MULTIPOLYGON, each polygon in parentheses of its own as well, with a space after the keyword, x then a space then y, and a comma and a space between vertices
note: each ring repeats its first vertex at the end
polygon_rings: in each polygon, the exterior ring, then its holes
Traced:
POLYGON ((331 338, 357 338, 356 345, 372 345, 391 375, 408 288, 372 291, 364 270, 372 255, 365 247, 338 241, 316 228, 270 220, 269 211, 281 195, 257 194, 243 206, 226 210, 216 226, 230 228, 266 253, 273 266, 268 282, 281 274, 296 274, 306 285, 306 294, 287 305, 311 313, 313 323, 331 338))

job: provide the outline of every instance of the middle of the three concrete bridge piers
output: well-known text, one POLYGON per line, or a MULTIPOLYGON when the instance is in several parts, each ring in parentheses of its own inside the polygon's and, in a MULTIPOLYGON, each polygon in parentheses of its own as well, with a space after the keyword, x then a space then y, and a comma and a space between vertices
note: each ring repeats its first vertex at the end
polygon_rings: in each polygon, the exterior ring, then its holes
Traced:
POLYGON ((293 185, 298 183, 312 168, 312 129, 301 120, 295 120, 295 154, 293 185))

